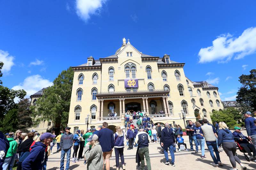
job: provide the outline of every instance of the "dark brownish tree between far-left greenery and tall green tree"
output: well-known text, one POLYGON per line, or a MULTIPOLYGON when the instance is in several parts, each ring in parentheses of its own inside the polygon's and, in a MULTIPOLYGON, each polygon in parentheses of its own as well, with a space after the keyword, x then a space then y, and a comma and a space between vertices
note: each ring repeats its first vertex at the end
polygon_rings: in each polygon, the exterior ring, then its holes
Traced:
POLYGON ((31 118, 31 110, 30 110, 30 99, 21 99, 18 106, 18 115, 17 118, 19 120, 17 129, 21 129, 22 131, 28 131, 28 128, 30 128, 33 125, 33 121, 31 118))

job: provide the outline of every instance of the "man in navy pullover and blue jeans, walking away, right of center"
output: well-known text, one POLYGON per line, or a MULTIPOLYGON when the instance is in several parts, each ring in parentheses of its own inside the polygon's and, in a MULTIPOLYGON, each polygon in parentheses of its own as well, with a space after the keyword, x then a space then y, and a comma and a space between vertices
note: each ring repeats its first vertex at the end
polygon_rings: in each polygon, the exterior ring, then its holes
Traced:
POLYGON ((173 148, 175 147, 174 146, 175 136, 174 136, 174 133, 173 133, 172 129, 169 128, 168 123, 165 123, 165 128, 162 130, 160 141, 162 142, 161 145, 164 147, 164 157, 166 159, 165 164, 166 165, 170 164, 169 157, 168 157, 168 148, 169 148, 169 152, 170 152, 170 155, 171 155, 171 158, 172 158, 171 165, 175 166, 175 164, 174 164, 174 150, 173 150, 173 148))

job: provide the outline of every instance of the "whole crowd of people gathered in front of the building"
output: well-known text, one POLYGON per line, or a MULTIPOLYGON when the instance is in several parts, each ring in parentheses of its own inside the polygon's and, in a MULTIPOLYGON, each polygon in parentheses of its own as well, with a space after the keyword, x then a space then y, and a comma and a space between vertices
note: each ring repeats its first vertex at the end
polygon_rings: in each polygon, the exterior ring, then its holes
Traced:
MULTIPOLYGON (((130 114, 126 114, 130 115, 130 114)), ((72 162, 76 163, 81 159, 84 159, 84 165, 88 170, 95 169, 110 169, 110 158, 112 156, 113 148, 116 157, 116 168, 122 167, 125 169, 124 160, 124 145, 127 145, 128 150, 137 148, 136 151, 136 163, 141 170, 145 169, 145 162, 148 170, 151 170, 151 162, 149 156, 149 143, 159 142, 162 147, 165 164, 175 166, 175 154, 176 144, 179 150, 180 146, 184 145, 187 151, 195 151, 196 153, 201 150, 201 158, 205 157, 205 144, 212 157, 213 166, 222 166, 220 160, 219 148, 222 147, 224 152, 229 157, 232 168, 230 170, 236 170, 236 162, 240 165, 241 170, 246 170, 240 159, 236 155, 237 144, 242 146, 245 152, 252 161, 256 159, 256 119, 251 116, 250 112, 244 114, 245 127, 248 137, 244 136, 241 132, 241 128, 234 127, 235 131, 232 133, 227 127, 225 122, 215 122, 214 125, 210 124, 207 119, 202 121, 192 122, 188 121, 186 126, 186 134, 189 138, 190 149, 187 149, 187 145, 184 143, 183 129, 180 125, 170 126, 168 123, 164 125, 157 124, 148 125, 150 120, 147 120, 147 116, 141 117, 142 123, 136 123, 137 128, 130 124, 127 124, 126 132, 120 126, 116 127, 116 132, 108 129, 108 123, 103 122, 102 125, 96 129, 77 130, 75 134, 70 132, 70 127, 66 127, 65 131, 60 132, 58 136, 54 132, 38 134, 34 130, 29 133, 22 133, 17 130, 15 133, 9 132, 3 134, 0 132, 0 170, 12 169, 15 160, 18 170, 33 170, 33 169, 46 169, 46 162, 48 156, 51 154, 52 147, 57 144, 57 152, 61 151, 60 156, 60 170, 64 169, 65 155, 66 170, 69 168, 71 150, 73 147, 72 162), (143 123, 146 122, 144 126, 143 123), (157 129, 157 130, 156 130, 157 129), (250 143, 252 141, 252 143, 250 143), (194 150, 193 142, 196 146, 194 150), (171 159, 168 157, 168 150, 171 155, 171 159), (78 155, 77 155, 78 153, 78 155), (119 158, 121 159, 121 166, 119 166, 119 158), (146 159, 146 161, 145 161, 146 159)), ((140 117, 137 121, 140 121, 140 117)), ((134 152, 135 154, 135 152, 134 152)))

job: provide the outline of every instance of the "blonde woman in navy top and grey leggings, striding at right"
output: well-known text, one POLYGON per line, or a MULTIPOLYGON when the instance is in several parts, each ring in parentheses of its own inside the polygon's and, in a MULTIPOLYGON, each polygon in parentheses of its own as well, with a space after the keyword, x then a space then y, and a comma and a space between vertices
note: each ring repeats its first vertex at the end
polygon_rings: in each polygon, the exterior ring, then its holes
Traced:
POLYGON ((241 163, 240 159, 236 156, 236 143, 232 132, 228 129, 228 126, 224 122, 219 122, 220 130, 218 133, 218 146, 222 144, 222 148, 228 155, 232 168, 230 170, 236 170, 236 162, 240 164, 242 170, 246 170, 246 167, 241 163))

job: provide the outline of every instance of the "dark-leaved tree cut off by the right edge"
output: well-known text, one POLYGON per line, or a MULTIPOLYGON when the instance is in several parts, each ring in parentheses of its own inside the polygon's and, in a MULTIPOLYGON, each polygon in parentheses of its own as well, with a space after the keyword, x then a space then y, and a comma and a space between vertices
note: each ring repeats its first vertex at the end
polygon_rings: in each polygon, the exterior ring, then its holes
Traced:
POLYGON ((249 75, 241 75, 239 82, 242 84, 237 92, 236 101, 239 103, 239 111, 255 111, 256 109, 256 69, 250 71, 249 75))

